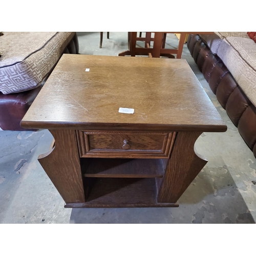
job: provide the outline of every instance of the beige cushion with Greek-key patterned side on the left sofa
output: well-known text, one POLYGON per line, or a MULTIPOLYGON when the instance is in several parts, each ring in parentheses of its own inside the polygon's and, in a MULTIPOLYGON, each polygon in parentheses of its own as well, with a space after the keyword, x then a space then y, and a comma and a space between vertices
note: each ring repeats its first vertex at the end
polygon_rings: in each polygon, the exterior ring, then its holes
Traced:
POLYGON ((39 86, 54 67, 74 32, 4 32, 0 37, 0 91, 39 86))

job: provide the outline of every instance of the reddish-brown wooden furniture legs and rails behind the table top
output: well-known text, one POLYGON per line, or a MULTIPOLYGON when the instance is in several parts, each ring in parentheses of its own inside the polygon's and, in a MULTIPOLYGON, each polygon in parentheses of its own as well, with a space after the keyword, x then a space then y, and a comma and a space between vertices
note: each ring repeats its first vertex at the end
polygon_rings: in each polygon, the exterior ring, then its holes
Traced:
POLYGON ((144 48, 136 47, 137 32, 130 32, 130 48, 127 51, 121 52, 118 56, 136 56, 136 55, 149 55, 152 57, 168 57, 175 58, 173 54, 176 54, 176 58, 180 59, 182 55, 183 45, 187 34, 213 34, 214 32, 146 32, 155 33, 153 48, 147 47, 145 44, 144 48), (166 49, 165 40, 167 33, 180 34, 178 49, 166 49))

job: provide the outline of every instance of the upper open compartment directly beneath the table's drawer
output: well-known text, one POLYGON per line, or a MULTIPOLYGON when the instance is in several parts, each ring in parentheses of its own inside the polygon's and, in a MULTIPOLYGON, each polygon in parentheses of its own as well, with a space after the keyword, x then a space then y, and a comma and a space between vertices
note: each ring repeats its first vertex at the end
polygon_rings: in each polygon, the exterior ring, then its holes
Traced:
POLYGON ((161 178, 162 159, 81 158, 84 177, 161 178))

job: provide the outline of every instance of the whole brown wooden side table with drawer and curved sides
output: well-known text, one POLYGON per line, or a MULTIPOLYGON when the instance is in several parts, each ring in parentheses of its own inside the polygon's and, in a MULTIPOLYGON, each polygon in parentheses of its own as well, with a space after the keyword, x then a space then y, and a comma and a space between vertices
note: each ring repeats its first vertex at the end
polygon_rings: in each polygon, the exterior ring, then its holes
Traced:
POLYGON ((54 136, 39 162, 65 207, 104 208, 178 206, 207 162, 195 141, 227 129, 183 59, 68 54, 22 126, 54 136))

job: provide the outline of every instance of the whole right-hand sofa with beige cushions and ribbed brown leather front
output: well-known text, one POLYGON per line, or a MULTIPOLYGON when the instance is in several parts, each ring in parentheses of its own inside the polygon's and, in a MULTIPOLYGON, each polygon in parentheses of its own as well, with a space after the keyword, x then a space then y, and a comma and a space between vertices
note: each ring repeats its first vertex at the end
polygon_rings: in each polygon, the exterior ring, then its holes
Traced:
POLYGON ((190 35, 187 47, 256 156, 256 43, 246 32, 190 35))

